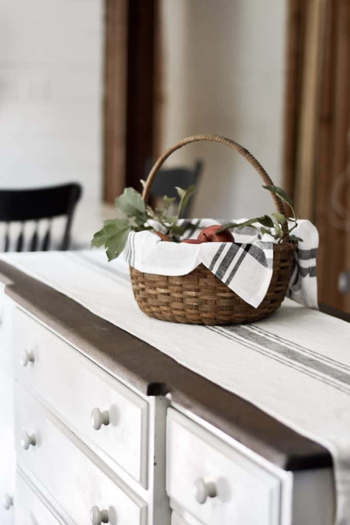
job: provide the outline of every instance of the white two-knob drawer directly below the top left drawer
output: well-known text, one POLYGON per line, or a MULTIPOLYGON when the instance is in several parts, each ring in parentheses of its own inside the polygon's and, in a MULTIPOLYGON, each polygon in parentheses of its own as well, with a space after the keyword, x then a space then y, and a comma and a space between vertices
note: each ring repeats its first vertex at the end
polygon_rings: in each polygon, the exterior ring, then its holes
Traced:
POLYGON ((29 470, 76 525, 86 525, 94 507, 111 525, 145 525, 146 503, 70 430, 15 386, 17 464, 29 470))

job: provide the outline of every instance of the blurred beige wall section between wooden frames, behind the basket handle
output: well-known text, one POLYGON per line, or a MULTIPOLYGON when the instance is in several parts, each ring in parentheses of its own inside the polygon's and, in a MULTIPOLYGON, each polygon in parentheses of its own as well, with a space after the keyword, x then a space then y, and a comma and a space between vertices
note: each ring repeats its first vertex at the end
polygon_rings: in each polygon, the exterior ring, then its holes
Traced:
MULTIPOLYGON (((246 146, 282 184, 285 0, 162 0, 162 149, 187 135, 217 133, 246 146)), ((273 211, 258 175, 219 144, 186 146, 172 163, 206 163, 194 215, 273 211)))

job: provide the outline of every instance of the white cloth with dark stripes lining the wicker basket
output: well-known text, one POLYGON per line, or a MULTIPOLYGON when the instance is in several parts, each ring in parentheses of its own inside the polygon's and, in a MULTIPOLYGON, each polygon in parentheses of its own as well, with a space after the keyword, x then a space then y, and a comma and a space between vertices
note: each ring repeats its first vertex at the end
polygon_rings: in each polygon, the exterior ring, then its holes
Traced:
MULTIPOLYGON (((246 219, 229 220, 241 223, 246 219)), ((214 219, 181 220, 186 227, 181 239, 196 239, 203 228, 218 224, 214 219)), ((290 227, 294 223, 289 223, 290 227)), ((160 225, 156 229, 166 230, 160 225)), ((232 228, 234 243, 166 243, 149 231, 131 232, 126 259, 136 270, 159 275, 186 275, 203 263, 247 303, 257 308, 269 288, 273 273, 273 241, 253 227, 232 228)), ((288 295, 317 308, 316 251, 319 235, 309 220, 299 220, 293 234, 302 238, 295 250, 288 295)))

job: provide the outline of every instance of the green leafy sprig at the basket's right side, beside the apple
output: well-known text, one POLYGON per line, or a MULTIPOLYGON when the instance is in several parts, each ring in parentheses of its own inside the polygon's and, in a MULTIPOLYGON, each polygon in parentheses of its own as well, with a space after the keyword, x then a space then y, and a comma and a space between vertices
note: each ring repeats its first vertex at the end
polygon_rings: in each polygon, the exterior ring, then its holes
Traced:
MULTIPOLYGON (((292 217, 285 217, 284 214, 279 212, 273 212, 271 213, 270 217, 269 215, 263 215, 261 217, 254 217, 253 219, 245 220, 243 223, 227 223, 222 226, 218 230, 217 233, 224 232, 227 229, 230 228, 237 228, 242 229, 245 226, 250 226, 252 228, 257 229, 262 234, 268 234, 271 237, 273 237, 275 240, 277 240, 279 243, 284 238, 284 232, 283 232, 283 225, 289 220, 289 222, 293 222, 294 225, 289 230, 289 234, 292 232, 296 226, 298 226, 298 220, 300 217, 295 216, 294 208, 293 208, 293 202, 290 196, 285 192, 282 188, 279 188, 278 186, 262 186, 265 190, 268 190, 269 192, 278 195, 282 199, 283 202, 287 203, 289 207, 291 208, 292 217), (255 226, 255 224, 260 224, 260 227, 255 226), (269 229, 268 229, 269 228, 269 229)), ((300 237, 297 237, 295 235, 289 235, 289 238, 292 242, 298 242, 299 240, 303 240, 300 237)))

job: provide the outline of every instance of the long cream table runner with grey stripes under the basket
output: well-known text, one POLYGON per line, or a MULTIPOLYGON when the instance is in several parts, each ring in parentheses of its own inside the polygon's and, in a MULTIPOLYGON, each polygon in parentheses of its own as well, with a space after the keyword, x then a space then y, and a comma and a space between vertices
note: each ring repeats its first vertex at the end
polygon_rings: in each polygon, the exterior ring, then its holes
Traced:
POLYGON ((247 325, 160 321, 137 307, 125 260, 102 249, 2 259, 327 447, 336 525, 350 525, 350 324, 288 298, 247 325))

